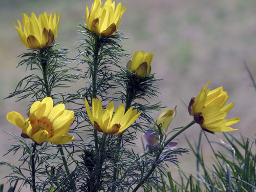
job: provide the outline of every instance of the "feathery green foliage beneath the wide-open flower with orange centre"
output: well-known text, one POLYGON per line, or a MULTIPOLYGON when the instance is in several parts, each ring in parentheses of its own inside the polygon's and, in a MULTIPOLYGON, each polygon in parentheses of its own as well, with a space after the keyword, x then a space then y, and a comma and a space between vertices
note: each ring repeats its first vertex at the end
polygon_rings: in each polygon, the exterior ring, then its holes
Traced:
POLYGON ((0 165, 8 166, 12 170, 6 178, 9 179, 10 185, 14 183, 13 191, 18 182, 20 187, 17 191, 20 191, 23 186, 31 186, 33 178, 28 176, 33 172, 38 173, 35 178, 38 191, 48 191, 53 186, 59 186, 59 182, 64 180, 67 184, 69 183, 69 180, 66 179, 65 171, 63 171, 63 165, 59 163, 60 156, 56 153, 56 148, 53 150, 53 145, 45 142, 35 148, 34 142, 27 142, 26 139, 15 134, 9 135, 12 136, 15 144, 11 146, 5 155, 13 154, 17 156, 17 152, 22 152, 18 159, 20 165, 12 165, 8 161, 0 162, 0 165), (24 166, 26 164, 28 166, 24 166))

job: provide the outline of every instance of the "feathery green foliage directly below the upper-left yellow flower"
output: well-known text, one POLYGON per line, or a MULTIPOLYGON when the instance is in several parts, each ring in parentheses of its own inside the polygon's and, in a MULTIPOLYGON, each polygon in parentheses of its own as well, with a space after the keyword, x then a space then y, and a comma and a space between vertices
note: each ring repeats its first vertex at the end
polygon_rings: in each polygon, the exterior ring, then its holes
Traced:
POLYGON ((75 82, 79 75, 71 74, 71 71, 78 71, 78 68, 70 67, 71 61, 66 58, 67 49, 54 49, 56 45, 40 49, 30 50, 28 53, 19 55, 24 58, 19 61, 18 66, 26 66, 32 74, 20 80, 15 91, 6 98, 21 95, 19 100, 27 97, 33 100, 40 100, 47 96, 56 98, 61 93, 52 91, 57 88, 69 87, 67 82, 75 82), (37 75, 40 71, 42 76, 37 75))

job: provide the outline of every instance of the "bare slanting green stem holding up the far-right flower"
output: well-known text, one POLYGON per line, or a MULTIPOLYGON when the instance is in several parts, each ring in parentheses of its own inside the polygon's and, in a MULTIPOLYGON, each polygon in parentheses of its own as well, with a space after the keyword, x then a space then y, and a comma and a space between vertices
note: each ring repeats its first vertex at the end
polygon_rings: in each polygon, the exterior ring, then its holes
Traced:
MULTIPOLYGON (((190 127, 191 125, 193 125, 194 123, 196 123, 195 120, 191 121, 190 123, 188 123, 186 126, 183 126, 183 128, 178 131, 176 134, 174 134, 171 138, 169 138, 168 140, 166 140, 164 142, 164 146, 162 146, 162 150, 164 149, 164 147, 170 142, 172 141, 175 137, 177 137, 178 135, 180 135, 182 132, 184 132, 186 129, 188 129, 188 127, 190 127)), ((145 151, 144 153, 142 153, 139 157, 144 157, 148 152, 150 152, 150 150, 145 151)), ((156 158, 155 158, 155 162, 158 161, 159 157, 160 157, 159 153, 156 158)), ((148 179, 148 177, 150 177, 150 175, 154 172, 155 168, 157 167, 157 163, 154 163, 151 167, 151 169, 148 171, 148 173, 146 174, 146 176, 140 180, 140 182, 135 186, 135 188, 133 189, 132 192, 135 192, 139 189, 139 187, 148 179)))

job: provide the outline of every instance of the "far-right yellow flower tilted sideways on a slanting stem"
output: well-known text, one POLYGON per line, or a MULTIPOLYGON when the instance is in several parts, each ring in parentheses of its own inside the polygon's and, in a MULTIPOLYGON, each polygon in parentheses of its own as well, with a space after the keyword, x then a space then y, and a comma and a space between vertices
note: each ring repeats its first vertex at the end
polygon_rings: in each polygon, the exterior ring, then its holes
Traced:
POLYGON ((210 89, 206 89, 209 83, 210 81, 196 97, 190 100, 189 114, 194 116, 195 121, 200 124, 202 129, 209 133, 237 130, 230 126, 240 121, 240 117, 224 119, 233 108, 234 103, 224 106, 228 98, 227 92, 223 91, 223 87, 210 91, 210 89))

